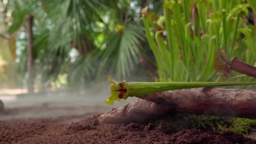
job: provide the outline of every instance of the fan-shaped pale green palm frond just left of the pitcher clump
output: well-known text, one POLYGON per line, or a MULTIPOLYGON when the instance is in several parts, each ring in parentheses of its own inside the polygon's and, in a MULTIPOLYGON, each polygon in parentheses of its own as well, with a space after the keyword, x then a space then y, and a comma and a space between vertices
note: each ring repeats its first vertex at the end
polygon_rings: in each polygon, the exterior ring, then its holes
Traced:
POLYGON ((103 69, 112 67, 119 79, 127 77, 134 69, 134 64, 139 61, 141 40, 144 40, 143 27, 134 22, 126 24, 122 34, 112 32, 101 53, 98 75, 103 69), (107 63, 110 65, 106 65, 107 63))

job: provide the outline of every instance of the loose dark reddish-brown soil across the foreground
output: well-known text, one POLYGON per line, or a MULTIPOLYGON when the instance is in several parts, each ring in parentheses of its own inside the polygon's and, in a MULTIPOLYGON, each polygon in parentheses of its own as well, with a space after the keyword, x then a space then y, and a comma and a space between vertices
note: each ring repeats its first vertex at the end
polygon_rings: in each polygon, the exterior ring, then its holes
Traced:
POLYGON ((0 144, 256 144, 241 134, 197 129, 163 132, 153 124, 99 125, 92 114, 0 121, 0 144), (93 117, 88 118, 86 117, 93 117), (86 119, 86 120, 83 120, 86 119))

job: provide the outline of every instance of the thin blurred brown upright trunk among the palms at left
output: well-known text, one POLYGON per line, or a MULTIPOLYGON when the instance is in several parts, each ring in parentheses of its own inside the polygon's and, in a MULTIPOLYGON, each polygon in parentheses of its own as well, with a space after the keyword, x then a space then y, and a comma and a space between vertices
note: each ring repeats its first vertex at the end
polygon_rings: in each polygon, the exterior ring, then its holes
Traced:
POLYGON ((34 67, 34 46, 33 46, 33 16, 26 16, 27 24, 27 54, 28 54, 28 79, 27 79, 27 89, 29 93, 34 93, 34 78, 35 78, 35 67, 34 67))

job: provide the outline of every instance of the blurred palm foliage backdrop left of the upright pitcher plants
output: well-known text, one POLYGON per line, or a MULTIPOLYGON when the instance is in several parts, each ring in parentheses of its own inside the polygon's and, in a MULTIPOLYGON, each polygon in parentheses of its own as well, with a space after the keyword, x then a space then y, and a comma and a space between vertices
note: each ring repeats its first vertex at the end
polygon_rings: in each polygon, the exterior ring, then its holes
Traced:
POLYGON ((1 58, 1 85, 27 82, 26 14, 34 16, 38 88, 84 88, 108 75, 148 77, 139 64, 150 55, 140 11, 155 3, 161 6, 158 0, 1 0, 1 56, 13 56, 1 58))

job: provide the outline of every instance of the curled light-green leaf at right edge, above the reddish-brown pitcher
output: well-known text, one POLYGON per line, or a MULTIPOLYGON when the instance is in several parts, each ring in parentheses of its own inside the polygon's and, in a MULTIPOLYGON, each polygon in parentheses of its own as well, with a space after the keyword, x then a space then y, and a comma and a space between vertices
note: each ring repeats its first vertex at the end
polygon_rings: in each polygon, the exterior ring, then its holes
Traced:
POLYGON ((254 59, 256 59, 256 47, 254 43, 254 35, 252 34, 251 29, 247 28, 240 28, 237 29, 239 32, 242 32, 246 37, 245 37, 245 43, 248 46, 248 48, 251 50, 254 59))

